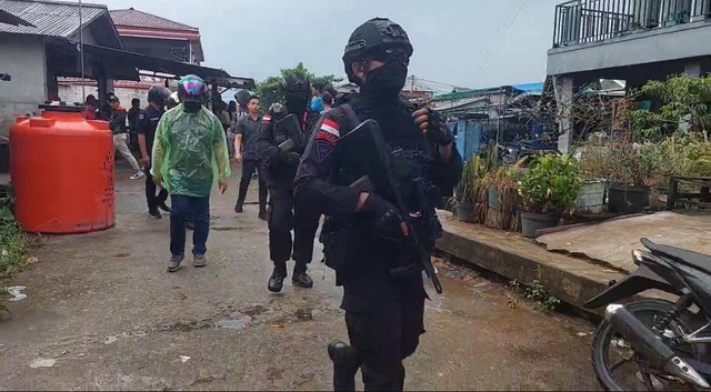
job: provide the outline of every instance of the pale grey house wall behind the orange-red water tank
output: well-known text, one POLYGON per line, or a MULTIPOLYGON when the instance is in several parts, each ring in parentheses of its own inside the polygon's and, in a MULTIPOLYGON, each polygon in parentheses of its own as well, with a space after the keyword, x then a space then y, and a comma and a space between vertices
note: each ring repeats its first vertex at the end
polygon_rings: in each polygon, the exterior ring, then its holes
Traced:
POLYGON ((0 81, 0 134, 8 135, 16 117, 39 113, 47 99, 47 61, 39 37, 4 36, 0 53, 0 73, 12 77, 0 81))

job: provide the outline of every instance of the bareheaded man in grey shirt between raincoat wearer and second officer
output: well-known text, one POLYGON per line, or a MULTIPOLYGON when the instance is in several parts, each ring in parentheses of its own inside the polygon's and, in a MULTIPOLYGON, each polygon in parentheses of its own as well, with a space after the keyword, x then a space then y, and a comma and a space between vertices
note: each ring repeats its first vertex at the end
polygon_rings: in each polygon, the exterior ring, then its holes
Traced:
POLYGON ((264 162, 257 153, 257 135, 261 125, 261 117, 259 115, 259 98, 250 97, 248 115, 242 117, 237 122, 234 135, 234 157, 237 161, 242 163, 242 179, 240 180, 239 195, 234 212, 242 212, 244 199, 249 182, 252 179, 254 170, 259 173, 259 219, 267 220, 267 171, 264 162))

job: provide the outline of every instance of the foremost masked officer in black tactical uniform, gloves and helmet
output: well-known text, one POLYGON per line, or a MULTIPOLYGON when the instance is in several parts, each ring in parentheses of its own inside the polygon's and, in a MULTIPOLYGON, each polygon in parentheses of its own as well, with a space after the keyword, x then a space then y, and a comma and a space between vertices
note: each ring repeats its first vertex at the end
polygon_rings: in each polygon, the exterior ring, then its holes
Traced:
POLYGON ((412 229, 427 239, 422 243, 428 254, 441 234, 434 214, 435 200, 441 200, 437 193, 450 192, 461 177, 462 159, 452 147, 443 117, 429 109, 415 110, 399 98, 411 54, 405 31, 388 19, 369 20, 353 31, 343 63, 349 80, 360 86, 360 93, 350 103, 324 114, 297 174, 297 207, 318 208, 327 215, 321 230, 326 262, 336 269, 337 284, 343 285, 341 308, 346 311, 351 345, 340 341, 329 345, 337 391, 354 389, 358 368, 362 370, 367 391, 403 389, 402 360, 414 352, 424 332, 427 298, 418 263, 422 259, 403 248, 408 247, 404 240, 411 233, 402 212, 393 205, 395 201, 380 197, 377 189, 362 191, 349 187, 358 178, 352 173, 349 178, 353 162, 343 159, 354 155, 352 151, 344 153, 353 141, 348 132, 360 122, 375 120, 392 151, 392 165, 395 152, 398 157, 408 157, 398 162, 401 170, 397 172, 409 177, 399 178, 398 183, 407 204, 419 205, 407 213, 412 229), (414 181, 423 181, 427 192, 413 191, 423 189, 410 187, 414 181), (393 229, 399 237, 394 244, 392 237, 380 235, 392 233, 393 229), (412 265, 408 271, 413 272, 395 275, 393 271, 402 265, 412 265))

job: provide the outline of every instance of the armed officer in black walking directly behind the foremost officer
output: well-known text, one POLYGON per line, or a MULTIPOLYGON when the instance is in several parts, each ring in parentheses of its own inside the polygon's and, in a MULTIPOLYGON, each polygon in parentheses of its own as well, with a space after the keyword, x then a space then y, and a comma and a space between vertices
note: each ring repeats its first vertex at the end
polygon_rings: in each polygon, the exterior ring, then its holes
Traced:
POLYGON ((282 89, 284 104, 274 103, 264 114, 257 140, 257 149, 266 159, 269 182, 269 254, 274 263, 268 285, 271 292, 281 291, 290 258, 296 261, 291 281, 302 288, 313 287, 307 264, 313 257, 320 218, 318 213, 307 212, 308 205, 304 209, 293 205, 293 180, 299 159, 319 118, 307 108, 311 86, 306 78, 291 73, 284 78, 282 89))

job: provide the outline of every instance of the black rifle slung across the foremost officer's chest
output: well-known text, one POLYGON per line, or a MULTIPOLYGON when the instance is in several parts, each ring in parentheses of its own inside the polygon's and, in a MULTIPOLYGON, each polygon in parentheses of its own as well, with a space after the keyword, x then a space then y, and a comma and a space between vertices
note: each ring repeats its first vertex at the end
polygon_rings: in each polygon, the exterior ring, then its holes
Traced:
MULTIPOLYGON (((442 284, 437 275, 437 271, 432 265, 430 260, 430 253, 424 249, 423 243, 420 241, 419 234, 412 224, 412 219, 410 217, 410 211, 408 209, 408 204, 404 202, 404 198, 402 197, 401 188, 398 183, 398 178, 394 174, 391 152, 390 148, 385 143, 382 134, 380 133, 380 125, 374 120, 365 120, 360 125, 356 127, 352 131, 347 133, 339 141, 339 145, 348 145, 349 139, 360 139, 365 138, 368 142, 371 144, 372 149, 377 154, 377 160, 380 163, 379 170, 382 171, 383 181, 382 187, 384 187, 383 191, 390 195, 391 201, 394 202, 400 217, 402 217, 404 223, 408 227, 409 235, 405 238, 408 242, 407 249, 414 252, 413 257, 417 257, 419 264, 424 269, 427 275, 432 280, 432 284, 434 285, 434 290, 437 290, 438 294, 442 293, 442 284)), ((371 162, 372 164, 372 162, 371 162)), ((350 187, 357 188, 363 192, 372 192, 374 190, 373 182, 368 175, 363 175, 358 179, 350 187)), ((417 265, 417 264, 414 264, 417 265)), ((393 278, 403 277, 407 274, 411 274, 413 271, 413 265, 395 268, 390 271, 390 274, 393 278)))

